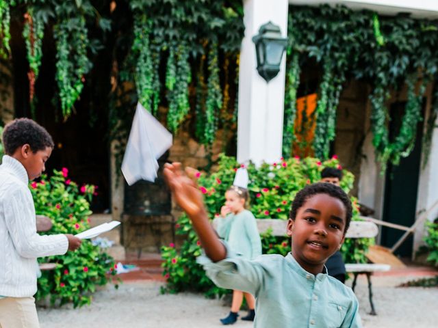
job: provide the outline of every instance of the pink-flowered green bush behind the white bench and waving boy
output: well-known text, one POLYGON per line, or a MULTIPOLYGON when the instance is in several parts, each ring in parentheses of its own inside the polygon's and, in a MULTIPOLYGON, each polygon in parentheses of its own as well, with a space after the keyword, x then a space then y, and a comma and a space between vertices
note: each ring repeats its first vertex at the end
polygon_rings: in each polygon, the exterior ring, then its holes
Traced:
MULTIPOLYGON (((224 193, 233 183, 235 171, 240 165, 235 158, 220 156, 217 172, 207 175, 198 172, 198 185, 205 197, 205 204, 210 219, 220 213, 224 204, 224 193)), ((258 219, 273 218, 286 220, 289 215, 292 200, 300 189, 318 182, 323 167, 338 167, 342 169, 337 156, 324 161, 298 157, 260 167, 250 164, 248 175, 250 182, 250 211, 258 219)), ((348 192, 352 188, 354 176, 343 170, 344 178, 341 187, 348 192)), ((353 219, 359 219, 357 202, 353 199, 353 219)), ((206 276, 201 266, 196 264, 196 256, 201 255, 201 246, 188 217, 183 214, 177 221, 177 234, 187 236, 179 251, 175 245, 162 247, 164 259, 164 275, 167 278, 163 292, 179 292, 181 290, 196 290, 205 292, 207 296, 222 295, 225 290, 216 287, 206 276)), ((290 251, 290 241, 287 236, 275 237, 266 232, 261 234, 263 254, 287 254, 290 251)), ((365 252, 372 240, 346 240, 342 253, 347 262, 365 262, 365 252)))

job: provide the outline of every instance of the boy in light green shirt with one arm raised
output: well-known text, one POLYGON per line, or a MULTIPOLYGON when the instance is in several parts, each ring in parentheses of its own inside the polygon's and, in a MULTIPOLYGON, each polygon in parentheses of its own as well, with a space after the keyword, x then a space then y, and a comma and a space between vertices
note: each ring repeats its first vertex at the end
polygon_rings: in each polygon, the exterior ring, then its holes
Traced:
MULTIPOLYGON (((352 290, 327 275, 324 263, 344 242, 352 217, 348 196, 333 184, 311 184, 294 198, 287 256, 255 260, 233 256, 209 225, 203 196, 191 179, 194 170, 166 164, 164 176, 176 202, 192 220, 205 254, 207 275, 220 287, 256 297, 254 327, 361 327, 352 290)), ((200 259, 201 260, 201 259, 200 259)))

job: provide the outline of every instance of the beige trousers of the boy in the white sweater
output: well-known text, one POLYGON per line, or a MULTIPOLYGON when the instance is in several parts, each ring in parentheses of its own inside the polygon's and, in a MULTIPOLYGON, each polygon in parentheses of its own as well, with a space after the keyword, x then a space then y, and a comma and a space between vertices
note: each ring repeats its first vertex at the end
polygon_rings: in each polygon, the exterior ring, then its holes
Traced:
POLYGON ((34 297, 0 299, 0 328, 40 328, 34 297))

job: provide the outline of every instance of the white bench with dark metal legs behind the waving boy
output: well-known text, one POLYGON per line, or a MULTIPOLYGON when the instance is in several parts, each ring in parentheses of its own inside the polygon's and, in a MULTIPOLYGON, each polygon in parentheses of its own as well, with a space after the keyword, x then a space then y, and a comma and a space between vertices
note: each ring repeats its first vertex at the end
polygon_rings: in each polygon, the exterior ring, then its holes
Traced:
MULTIPOLYGON (((216 228, 217 220, 213 220, 213 226, 216 228)), ((287 220, 281 219, 256 219, 257 228, 262 234, 268 229, 272 230, 272 236, 286 236, 286 226, 287 220)), ((378 234, 378 227, 376 223, 370 221, 351 221, 350 228, 346 233, 346 238, 374 238, 378 234)), ((371 312, 370 314, 376 315, 376 310, 374 309, 374 303, 372 301, 372 284, 371 275, 378 271, 388 271, 391 266, 388 264, 372 264, 372 263, 348 263, 345 264, 346 271, 354 275, 352 282, 352 290, 355 290, 357 276, 364 274, 368 279, 368 298, 370 299, 371 312)))

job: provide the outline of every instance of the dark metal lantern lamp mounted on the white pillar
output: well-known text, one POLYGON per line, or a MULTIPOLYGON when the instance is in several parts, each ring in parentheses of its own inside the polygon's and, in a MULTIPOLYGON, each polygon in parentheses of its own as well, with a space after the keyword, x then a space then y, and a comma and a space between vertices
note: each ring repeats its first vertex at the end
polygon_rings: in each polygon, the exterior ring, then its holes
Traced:
POLYGON ((281 57, 287 46, 287 38, 281 37, 280 27, 268 22, 261 25, 259 34, 253 37, 257 54, 257 71, 269 82, 280 72, 281 57))

